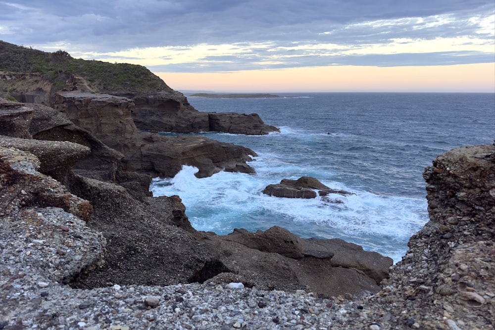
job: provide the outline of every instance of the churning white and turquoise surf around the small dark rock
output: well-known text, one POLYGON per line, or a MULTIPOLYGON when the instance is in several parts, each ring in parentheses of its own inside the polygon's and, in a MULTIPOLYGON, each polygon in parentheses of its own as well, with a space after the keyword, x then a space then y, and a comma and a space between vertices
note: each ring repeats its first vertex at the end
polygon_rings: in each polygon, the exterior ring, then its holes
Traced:
MULTIPOLYGON (((173 179, 153 180, 151 191, 154 195, 180 195, 193 227, 202 231, 225 235, 235 228, 255 231, 277 225, 302 237, 343 238, 367 250, 388 253, 397 261, 408 238, 427 220, 426 202, 414 198, 359 190, 327 198, 278 198, 261 192, 268 184, 278 183, 273 182, 272 174, 220 172, 198 179, 194 176, 197 171, 184 166, 173 179)), ((323 183, 351 190, 342 183, 323 183)))

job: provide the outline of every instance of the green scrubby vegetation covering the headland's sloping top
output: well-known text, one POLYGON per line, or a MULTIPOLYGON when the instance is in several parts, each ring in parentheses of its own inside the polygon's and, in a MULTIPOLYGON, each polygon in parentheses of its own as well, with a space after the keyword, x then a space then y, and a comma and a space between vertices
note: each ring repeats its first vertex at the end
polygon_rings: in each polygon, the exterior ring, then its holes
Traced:
MULTIPOLYGON (((68 54, 67 54, 68 55, 68 54)), ((75 73, 99 91, 133 91, 152 93, 171 92, 172 89, 146 67, 127 63, 108 63, 96 60, 64 59, 63 67, 54 61, 52 53, 6 43, 0 40, 0 71, 12 73, 40 73, 47 79, 75 73), (60 74, 62 73, 62 74, 60 74)), ((59 84, 61 85, 61 84, 59 84)))

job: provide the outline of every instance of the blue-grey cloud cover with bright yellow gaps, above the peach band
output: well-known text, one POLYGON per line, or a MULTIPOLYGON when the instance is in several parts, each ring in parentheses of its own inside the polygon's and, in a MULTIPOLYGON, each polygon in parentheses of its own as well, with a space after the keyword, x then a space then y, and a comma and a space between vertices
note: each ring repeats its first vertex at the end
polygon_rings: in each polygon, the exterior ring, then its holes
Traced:
POLYGON ((494 59, 492 0, 13 0, 0 39, 151 70, 494 59))

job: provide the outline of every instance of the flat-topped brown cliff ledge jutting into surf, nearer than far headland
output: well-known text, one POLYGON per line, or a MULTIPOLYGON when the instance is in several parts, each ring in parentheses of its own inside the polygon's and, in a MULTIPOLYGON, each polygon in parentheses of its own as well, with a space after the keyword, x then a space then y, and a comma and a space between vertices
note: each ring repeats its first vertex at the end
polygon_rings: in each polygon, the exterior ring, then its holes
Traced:
POLYGON ((200 136, 169 138, 136 128, 134 102, 109 94, 64 92, 55 95, 55 109, 109 147, 121 152, 125 171, 173 177, 182 165, 198 168, 198 177, 219 171, 254 173, 247 165, 256 153, 243 146, 200 136))

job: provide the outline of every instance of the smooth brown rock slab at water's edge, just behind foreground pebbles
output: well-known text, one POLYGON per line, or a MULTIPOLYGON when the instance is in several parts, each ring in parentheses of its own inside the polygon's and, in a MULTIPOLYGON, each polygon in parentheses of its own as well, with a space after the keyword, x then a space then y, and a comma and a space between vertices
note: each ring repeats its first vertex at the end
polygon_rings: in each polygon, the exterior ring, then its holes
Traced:
POLYGON ((222 273, 213 282, 242 282, 265 290, 303 289, 322 297, 354 295, 377 292, 392 266, 392 259, 361 246, 340 239, 303 239, 280 227, 197 236, 221 262, 217 269, 222 273))

